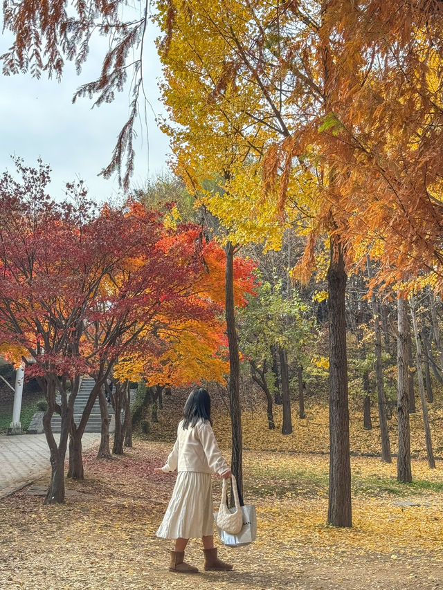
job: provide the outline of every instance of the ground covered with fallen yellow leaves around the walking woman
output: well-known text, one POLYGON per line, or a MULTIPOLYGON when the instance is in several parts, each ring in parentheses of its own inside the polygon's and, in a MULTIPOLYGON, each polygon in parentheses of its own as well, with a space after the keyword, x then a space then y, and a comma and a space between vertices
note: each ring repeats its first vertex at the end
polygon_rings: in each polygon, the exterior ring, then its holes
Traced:
MULTIPOLYGON (((68 481, 66 504, 44 506, 48 478, 0 502, 2 590, 418 589, 443 588, 443 461, 414 462, 415 483, 395 463, 352 457, 353 528, 326 526, 327 454, 244 452, 257 540, 219 544, 231 572, 168 571, 171 543, 155 537, 174 474, 154 472, 168 442, 134 440, 112 460, 84 456, 84 481, 68 481)), ((215 504, 220 482, 215 480, 215 504)), ((200 543, 186 558, 201 567, 200 543)))

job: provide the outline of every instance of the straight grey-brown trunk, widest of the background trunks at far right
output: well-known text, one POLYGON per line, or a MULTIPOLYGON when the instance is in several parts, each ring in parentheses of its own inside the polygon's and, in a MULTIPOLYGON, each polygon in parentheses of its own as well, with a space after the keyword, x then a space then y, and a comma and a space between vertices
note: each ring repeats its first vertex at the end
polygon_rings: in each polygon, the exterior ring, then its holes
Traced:
POLYGON ((410 470, 410 425, 408 395, 408 304, 406 299, 397 299, 397 418, 399 423, 399 453, 397 457, 397 480, 413 481, 410 470))

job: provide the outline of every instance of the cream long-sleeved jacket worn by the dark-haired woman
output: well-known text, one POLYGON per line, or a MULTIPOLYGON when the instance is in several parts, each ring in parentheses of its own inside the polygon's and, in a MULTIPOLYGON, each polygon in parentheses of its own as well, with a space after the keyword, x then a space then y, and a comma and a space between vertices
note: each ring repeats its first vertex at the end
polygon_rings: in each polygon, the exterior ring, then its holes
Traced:
POLYGON ((165 465, 164 472, 198 471, 200 473, 222 474, 228 471, 210 423, 199 421, 194 427, 183 429, 183 420, 177 428, 177 441, 165 465))

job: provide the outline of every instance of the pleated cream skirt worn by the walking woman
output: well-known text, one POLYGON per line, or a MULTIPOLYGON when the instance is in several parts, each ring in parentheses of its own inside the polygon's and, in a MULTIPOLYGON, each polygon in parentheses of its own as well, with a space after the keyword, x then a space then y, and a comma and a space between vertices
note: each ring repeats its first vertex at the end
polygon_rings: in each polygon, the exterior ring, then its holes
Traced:
POLYGON ((179 471, 163 522, 163 539, 198 539, 214 534, 213 486, 210 473, 179 471))

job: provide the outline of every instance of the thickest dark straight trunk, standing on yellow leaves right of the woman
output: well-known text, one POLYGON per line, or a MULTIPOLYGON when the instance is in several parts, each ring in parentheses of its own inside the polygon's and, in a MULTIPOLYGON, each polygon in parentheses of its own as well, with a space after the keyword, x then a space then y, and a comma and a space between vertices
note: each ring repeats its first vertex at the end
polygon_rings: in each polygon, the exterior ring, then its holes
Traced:
POLYGON ((345 321, 345 261, 331 236, 329 287, 329 506, 327 521, 352 526, 349 407, 345 321))

